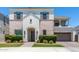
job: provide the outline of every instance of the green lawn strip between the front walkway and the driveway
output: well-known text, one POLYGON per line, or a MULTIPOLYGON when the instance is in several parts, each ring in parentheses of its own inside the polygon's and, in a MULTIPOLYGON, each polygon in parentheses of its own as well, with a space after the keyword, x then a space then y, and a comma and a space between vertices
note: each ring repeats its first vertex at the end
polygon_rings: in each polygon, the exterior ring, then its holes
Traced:
POLYGON ((35 43, 32 47, 64 47, 63 45, 61 44, 48 44, 48 43, 35 43))

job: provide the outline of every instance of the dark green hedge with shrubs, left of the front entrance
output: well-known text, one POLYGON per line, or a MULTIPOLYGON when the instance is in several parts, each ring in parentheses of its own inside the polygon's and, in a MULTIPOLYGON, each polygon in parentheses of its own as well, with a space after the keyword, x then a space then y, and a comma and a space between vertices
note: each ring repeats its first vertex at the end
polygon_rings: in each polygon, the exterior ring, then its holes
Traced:
POLYGON ((5 35, 5 41, 7 43, 23 43, 22 35, 5 35))

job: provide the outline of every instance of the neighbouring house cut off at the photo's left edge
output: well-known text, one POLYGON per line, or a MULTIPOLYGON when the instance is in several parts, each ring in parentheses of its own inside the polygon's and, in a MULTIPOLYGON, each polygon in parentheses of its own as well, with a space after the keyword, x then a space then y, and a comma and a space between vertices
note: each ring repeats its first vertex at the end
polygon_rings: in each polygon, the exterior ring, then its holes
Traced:
POLYGON ((6 30, 8 28, 8 26, 6 26, 6 24, 8 24, 6 21, 8 22, 8 18, 0 13, 0 42, 5 41, 4 35, 8 34, 9 31, 6 30))

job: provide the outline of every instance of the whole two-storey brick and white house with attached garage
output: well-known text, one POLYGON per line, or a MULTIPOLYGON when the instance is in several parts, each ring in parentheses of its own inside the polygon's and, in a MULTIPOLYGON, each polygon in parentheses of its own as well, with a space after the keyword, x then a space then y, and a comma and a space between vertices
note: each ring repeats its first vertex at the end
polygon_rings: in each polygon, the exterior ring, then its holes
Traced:
POLYGON ((75 41, 76 31, 68 21, 69 17, 54 16, 52 8, 10 8, 9 34, 23 35, 25 42, 54 34, 58 41, 75 41))

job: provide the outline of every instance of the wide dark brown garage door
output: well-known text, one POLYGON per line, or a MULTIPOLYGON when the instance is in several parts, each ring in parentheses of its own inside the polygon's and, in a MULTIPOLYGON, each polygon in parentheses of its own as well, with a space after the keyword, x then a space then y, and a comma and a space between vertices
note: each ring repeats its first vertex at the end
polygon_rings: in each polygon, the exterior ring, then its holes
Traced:
POLYGON ((71 41, 71 33, 54 33, 57 35, 57 41, 71 41))

